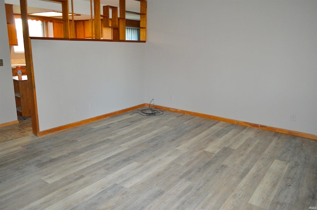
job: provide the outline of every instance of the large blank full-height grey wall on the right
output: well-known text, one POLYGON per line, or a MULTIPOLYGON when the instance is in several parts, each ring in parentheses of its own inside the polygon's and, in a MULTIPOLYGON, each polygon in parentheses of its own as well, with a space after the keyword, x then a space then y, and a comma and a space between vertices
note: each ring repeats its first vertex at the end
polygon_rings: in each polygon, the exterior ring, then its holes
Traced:
POLYGON ((316 0, 149 0, 146 101, 317 134, 316 11, 316 0))

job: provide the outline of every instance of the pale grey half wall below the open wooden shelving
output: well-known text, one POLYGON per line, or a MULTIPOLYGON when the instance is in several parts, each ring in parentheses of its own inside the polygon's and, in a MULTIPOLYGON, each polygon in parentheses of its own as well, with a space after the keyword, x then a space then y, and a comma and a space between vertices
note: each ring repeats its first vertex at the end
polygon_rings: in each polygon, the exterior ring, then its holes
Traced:
POLYGON ((31 43, 40 131, 144 103, 145 43, 31 43))

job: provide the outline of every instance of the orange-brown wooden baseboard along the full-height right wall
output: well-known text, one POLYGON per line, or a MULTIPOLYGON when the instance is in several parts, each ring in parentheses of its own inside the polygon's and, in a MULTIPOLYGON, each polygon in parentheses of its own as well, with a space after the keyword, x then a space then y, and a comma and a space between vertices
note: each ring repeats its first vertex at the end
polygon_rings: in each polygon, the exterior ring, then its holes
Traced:
MULTIPOLYGON (((146 104, 146 105, 149 106, 149 104, 146 104)), ((263 129, 263 130, 269 130, 269 131, 274 131, 274 132, 279 132, 279 133, 284 133, 284 134, 289 134, 289 135, 294 135, 294 136, 299 136, 299 137, 303 137, 303 138, 310 138, 310 139, 317 140, 317 135, 315 135, 315 134, 303 133, 303 132, 299 132, 299 131, 288 130, 288 129, 278 128, 278 127, 264 126, 264 125, 260 125, 260 124, 254 124, 254 123, 248 123, 248 122, 244 122, 244 121, 232 120, 232 119, 228 119, 228 118, 222 118, 222 117, 202 114, 202 113, 198 113, 198 112, 190 112, 190 111, 186 111, 186 110, 175 109, 175 108, 170 108, 170 107, 164 107, 164 106, 159 106, 159 105, 155 105, 155 107, 159 108, 161 110, 165 110, 165 111, 171 111, 171 112, 177 112, 177 113, 181 113, 181 114, 193 115, 193 116, 197 116, 197 117, 208 118, 208 119, 211 119, 211 120, 217 120, 217 121, 222 121, 222 122, 226 122, 226 123, 237 124, 237 125, 240 125, 240 126, 248 126, 248 127, 260 128, 260 129, 263 129)))

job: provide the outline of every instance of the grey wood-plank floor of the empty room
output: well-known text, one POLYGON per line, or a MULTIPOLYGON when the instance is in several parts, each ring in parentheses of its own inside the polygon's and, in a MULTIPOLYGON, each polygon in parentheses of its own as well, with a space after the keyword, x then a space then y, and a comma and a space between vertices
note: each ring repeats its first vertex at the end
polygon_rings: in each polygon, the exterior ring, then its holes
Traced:
POLYGON ((0 144, 0 209, 317 207, 316 140, 131 113, 0 144))

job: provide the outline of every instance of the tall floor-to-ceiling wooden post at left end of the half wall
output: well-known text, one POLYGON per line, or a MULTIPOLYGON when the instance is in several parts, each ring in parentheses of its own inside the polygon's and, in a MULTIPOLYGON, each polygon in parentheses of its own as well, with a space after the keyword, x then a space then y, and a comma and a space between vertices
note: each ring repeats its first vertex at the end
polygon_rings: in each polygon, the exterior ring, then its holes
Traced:
POLYGON ((25 51, 25 63, 26 63, 26 74, 28 76, 28 88, 29 96, 31 100, 31 117, 32 117, 32 129, 33 134, 39 136, 39 116, 37 110, 37 100, 35 91, 34 81, 34 70, 33 70, 33 59, 32 59, 32 46, 29 34, 28 16, 27 16, 27 0, 20 0, 21 7, 21 19, 23 28, 23 41, 25 51))

